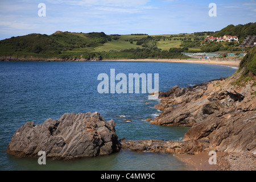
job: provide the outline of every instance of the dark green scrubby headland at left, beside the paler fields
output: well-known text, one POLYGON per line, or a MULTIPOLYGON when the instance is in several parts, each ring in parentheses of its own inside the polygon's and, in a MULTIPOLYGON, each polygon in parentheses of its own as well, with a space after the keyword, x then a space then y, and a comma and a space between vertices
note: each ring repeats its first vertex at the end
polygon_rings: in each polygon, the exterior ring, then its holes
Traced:
POLYGON ((108 42, 104 32, 89 34, 57 31, 52 35, 29 34, 0 41, 0 53, 40 53, 58 55, 61 51, 76 48, 97 47, 108 42))

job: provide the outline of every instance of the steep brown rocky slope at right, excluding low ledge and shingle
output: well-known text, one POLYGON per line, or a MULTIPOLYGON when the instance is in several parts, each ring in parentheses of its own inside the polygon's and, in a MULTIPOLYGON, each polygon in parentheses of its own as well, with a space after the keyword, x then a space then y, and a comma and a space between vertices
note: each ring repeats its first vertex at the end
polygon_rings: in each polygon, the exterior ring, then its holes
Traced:
POLYGON ((256 77, 237 85, 240 77, 160 93, 163 111, 151 124, 189 126, 183 142, 207 140, 205 150, 256 152, 256 77))

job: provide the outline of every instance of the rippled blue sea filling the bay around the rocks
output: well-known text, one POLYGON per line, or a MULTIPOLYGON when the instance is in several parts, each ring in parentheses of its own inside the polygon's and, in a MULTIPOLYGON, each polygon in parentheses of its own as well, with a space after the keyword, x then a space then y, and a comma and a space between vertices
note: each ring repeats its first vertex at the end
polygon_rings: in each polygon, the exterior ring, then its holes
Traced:
MULTIPOLYGON (((182 140, 188 127, 151 125, 160 110, 159 100, 146 94, 100 94, 100 73, 159 74, 159 90, 167 91, 232 75, 236 69, 222 65, 156 62, 1 62, 0 63, 0 170, 186 170, 173 155, 121 151, 108 156, 69 162, 16 158, 5 150, 15 131, 32 121, 59 119, 64 113, 97 111, 106 121, 114 119, 118 138, 182 140), (133 122, 125 122, 131 119, 133 122)), ((154 80, 154 79, 153 79, 154 80)), ((118 81, 116 81, 116 84, 118 81)))

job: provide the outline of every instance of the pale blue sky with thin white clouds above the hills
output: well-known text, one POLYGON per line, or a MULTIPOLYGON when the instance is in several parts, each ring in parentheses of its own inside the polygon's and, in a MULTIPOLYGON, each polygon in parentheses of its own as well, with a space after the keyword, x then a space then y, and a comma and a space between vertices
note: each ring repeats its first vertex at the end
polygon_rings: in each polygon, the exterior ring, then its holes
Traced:
POLYGON ((54 32, 149 35, 217 31, 256 20, 256 0, 0 0, 0 40, 54 32), (38 16, 39 3, 46 17, 38 16), (217 16, 208 7, 216 3, 217 16))

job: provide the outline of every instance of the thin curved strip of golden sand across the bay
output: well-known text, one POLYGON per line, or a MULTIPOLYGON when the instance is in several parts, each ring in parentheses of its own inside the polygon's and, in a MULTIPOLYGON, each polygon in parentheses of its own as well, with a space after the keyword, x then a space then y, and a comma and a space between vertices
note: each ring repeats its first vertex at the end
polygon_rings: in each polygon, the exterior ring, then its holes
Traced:
POLYGON ((220 64, 230 67, 239 67, 242 59, 120 59, 102 61, 140 61, 140 62, 168 62, 168 63, 196 63, 196 64, 220 64))

